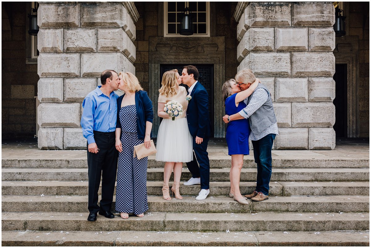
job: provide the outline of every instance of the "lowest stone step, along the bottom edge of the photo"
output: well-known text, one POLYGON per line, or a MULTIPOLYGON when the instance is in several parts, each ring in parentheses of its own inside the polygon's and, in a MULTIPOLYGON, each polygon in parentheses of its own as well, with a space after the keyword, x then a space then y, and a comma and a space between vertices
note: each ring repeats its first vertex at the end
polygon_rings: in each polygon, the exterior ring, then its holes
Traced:
POLYGON ((369 246, 364 231, 2 231, 3 246, 369 246))

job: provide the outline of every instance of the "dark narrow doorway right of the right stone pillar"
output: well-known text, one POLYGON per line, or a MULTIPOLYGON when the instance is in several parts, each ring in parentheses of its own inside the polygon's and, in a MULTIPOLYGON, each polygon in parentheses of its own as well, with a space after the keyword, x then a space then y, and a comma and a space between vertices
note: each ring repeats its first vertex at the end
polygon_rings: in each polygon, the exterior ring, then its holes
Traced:
POLYGON ((348 137, 347 64, 335 65, 335 125, 336 138, 348 137))

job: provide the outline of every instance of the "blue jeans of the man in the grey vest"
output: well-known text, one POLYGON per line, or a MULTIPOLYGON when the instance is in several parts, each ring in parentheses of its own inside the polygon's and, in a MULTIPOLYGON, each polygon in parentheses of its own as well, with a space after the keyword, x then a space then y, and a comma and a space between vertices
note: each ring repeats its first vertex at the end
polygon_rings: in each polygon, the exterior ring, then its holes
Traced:
POLYGON ((272 145, 276 135, 270 133, 259 140, 252 140, 254 159, 257 164, 256 192, 269 194, 269 182, 272 175, 272 145))

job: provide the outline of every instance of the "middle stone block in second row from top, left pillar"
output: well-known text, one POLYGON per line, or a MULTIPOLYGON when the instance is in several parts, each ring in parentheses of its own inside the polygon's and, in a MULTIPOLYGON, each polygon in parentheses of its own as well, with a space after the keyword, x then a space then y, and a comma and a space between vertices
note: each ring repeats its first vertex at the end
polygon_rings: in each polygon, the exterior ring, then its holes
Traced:
POLYGON ((66 52, 95 52, 95 29, 65 29, 64 47, 66 52))

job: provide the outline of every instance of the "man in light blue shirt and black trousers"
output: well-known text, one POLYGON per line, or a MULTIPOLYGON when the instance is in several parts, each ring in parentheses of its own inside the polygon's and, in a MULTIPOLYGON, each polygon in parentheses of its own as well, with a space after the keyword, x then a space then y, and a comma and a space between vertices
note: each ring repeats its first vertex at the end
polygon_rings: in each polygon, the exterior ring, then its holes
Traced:
POLYGON ((97 212, 106 218, 114 218, 113 201, 118 152, 115 148, 117 119, 117 95, 114 90, 120 84, 114 70, 101 74, 102 86, 96 87, 82 102, 81 127, 88 143, 89 198, 88 221, 96 221, 97 212), (102 176, 102 199, 98 206, 98 189, 102 176))

